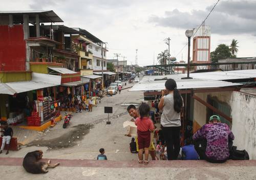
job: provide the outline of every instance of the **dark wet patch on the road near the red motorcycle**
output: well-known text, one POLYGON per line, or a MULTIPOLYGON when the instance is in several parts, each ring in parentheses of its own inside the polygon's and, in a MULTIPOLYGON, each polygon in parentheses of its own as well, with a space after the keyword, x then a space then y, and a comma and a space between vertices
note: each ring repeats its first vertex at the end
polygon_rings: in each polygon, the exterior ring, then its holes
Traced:
POLYGON ((67 133, 63 134, 58 138, 54 138, 51 140, 33 141, 27 146, 46 146, 49 148, 48 150, 72 147, 77 145, 76 142, 81 141, 93 127, 94 125, 91 124, 79 124, 77 126, 73 126, 73 130, 67 131, 67 133))

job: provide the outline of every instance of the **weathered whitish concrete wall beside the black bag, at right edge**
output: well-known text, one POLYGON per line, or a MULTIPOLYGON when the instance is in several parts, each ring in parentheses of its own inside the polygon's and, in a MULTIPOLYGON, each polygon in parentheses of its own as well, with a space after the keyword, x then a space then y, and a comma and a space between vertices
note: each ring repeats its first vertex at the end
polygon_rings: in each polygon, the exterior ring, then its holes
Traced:
POLYGON ((231 99, 232 132, 235 146, 256 159, 256 96, 233 92, 231 99))

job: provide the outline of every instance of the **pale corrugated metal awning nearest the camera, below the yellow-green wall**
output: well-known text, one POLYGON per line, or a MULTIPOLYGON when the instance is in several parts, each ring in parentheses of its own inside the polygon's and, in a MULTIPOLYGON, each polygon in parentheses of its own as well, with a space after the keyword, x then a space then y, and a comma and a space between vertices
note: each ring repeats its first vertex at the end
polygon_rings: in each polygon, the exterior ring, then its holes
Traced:
POLYGON ((35 89, 60 85, 61 76, 32 73, 31 81, 0 83, 0 94, 14 95, 35 89))

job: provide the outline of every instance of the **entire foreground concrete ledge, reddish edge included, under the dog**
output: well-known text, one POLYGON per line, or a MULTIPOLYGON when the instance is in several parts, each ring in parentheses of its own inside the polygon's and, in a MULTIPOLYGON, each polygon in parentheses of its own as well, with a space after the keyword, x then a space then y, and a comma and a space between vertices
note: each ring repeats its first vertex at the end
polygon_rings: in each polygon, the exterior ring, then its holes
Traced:
MULTIPOLYGON (((44 159, 47 161, 48 159, 44 159)), ((255 179, 256 161, 97 161, 51 159, 60 165, 47 174, 30 174, 22 167, 22 158, 0 158, 2 178, 13 179, 255 179), (68 167, 68 168, 67 168, 68 167)))

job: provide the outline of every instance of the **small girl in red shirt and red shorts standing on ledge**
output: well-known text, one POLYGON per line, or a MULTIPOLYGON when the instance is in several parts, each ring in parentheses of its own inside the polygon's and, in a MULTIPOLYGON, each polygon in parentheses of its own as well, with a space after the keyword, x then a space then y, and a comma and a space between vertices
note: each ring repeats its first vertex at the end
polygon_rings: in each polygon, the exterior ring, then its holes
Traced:
POLYGON ((139 163, 143 163, 143 150, 145 151, 144 164, 148 164, 148 147, 150 147, 150 132, 154 130, 154 124, 149 117, 150 106, 142 103, 139 106, 140 117, 135 120, 137 125, 138 145, 139 145, 139 163))

